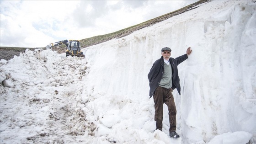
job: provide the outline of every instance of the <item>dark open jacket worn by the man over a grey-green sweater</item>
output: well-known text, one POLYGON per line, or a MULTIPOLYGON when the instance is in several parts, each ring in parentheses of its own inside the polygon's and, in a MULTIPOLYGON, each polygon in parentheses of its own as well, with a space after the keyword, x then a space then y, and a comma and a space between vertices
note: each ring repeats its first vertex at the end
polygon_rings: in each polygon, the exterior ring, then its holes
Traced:
MULTIPOLYGON (((181 64, 184 60, 187 59, 187 54, 181 55, 176 59, 170 58, 170 64, 172 69, 172 86, 171 88, 174 90, 177 88, 177 91, 181 95, 181 85, 180 85, 180 78, 178 75, 178 64, 181 64)), ((148 78, 149 78, 149 96, 152 97, 155 93, 155 89, 157 88, 158 84, 161 81, 162 75, 164 74, 164 58, 161 56, 160 59, 157 59, 153 64, 152 68, 149 71, 148 78)), ((150 98, 149 97, 149 98, 150 98)))

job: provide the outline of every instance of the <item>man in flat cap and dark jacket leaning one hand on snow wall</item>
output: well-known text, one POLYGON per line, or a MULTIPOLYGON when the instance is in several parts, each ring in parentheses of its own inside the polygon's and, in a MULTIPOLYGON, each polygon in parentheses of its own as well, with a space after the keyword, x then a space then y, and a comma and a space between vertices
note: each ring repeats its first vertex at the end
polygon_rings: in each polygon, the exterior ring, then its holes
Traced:
POLYGON ((163 104, 165 103, 169 111, 170 137, 179 138, 180 136, 176 133, 176 106, 172 91, 177 88, 178 93, 181 95, 177 66, 188 58, 187 56, 192 50, 190 50, 190 47, 187 48, 187 53, 176 59, 170 57, 171 48, 165 47, 162 48, 161 51, 161 58, 155 61, 148 74, 150 87, 149 96, 153 96, 155 102, 156 129, 162 131, 163 104))

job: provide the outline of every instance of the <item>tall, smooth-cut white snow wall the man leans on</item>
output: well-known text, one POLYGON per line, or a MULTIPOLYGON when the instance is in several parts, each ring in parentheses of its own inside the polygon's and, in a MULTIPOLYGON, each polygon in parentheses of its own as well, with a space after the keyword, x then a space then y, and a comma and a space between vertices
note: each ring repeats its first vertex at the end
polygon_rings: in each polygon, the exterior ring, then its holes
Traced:
MULTIPOLYGON (((255 2, 210 1, 127 37, 86 48, 91 68, 84 94, 94 100, 99 117, 149 115, 148 120, 154 120, 149 69, 160 58, 161 48, 170 47, 171 57, 176 58, 191 47, 192 54, 178 66, 181 96, 173 92, 182 141, 207 142, 236 131, 255 135, 255 40, 255 2)), ((168 133, 164 108, 163 131, 168 133)), ((145 127, 149 124, 145 121, 130 119, 133 126, 145 127)))

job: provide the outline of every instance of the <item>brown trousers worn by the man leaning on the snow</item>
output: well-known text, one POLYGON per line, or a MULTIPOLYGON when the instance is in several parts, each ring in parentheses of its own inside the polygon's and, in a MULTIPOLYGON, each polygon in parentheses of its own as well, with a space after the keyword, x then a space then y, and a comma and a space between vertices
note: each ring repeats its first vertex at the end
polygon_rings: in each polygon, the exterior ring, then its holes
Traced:
POLYGON ((161 86, 158 86, 155 89, 155 94, 153 95, 155 102, 155 121, 156 121, 156 129, 162 131, 163 128, 163 105, 164 103, 168 107, 169 111, 169 123, 171 131, 176 131, 176 106, 174 102, 174 98, 172 95, 172 89, 166 89, 161 86))

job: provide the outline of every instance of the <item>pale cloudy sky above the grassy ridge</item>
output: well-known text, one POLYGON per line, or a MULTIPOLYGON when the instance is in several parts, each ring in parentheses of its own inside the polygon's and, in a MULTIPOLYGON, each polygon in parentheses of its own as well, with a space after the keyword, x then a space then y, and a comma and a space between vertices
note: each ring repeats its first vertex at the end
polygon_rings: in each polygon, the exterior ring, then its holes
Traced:
POLYGON ((0 46, 46 47, 131 27, 197 0, 0 0, 0 46))

